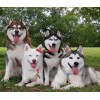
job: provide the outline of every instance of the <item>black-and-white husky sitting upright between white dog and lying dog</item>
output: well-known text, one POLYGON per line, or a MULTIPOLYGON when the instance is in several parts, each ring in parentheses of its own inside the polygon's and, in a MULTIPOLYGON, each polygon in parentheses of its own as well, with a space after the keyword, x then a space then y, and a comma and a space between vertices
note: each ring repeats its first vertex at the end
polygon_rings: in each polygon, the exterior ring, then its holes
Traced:
POLYGON ((56 74, 56 70, 59 65, 60 58, 62 56, 61 51, 61 34, 58 31, 56 34, 51 34, 47 31, 44 34, 44 77, 45 85, 49 85, 53 77, 56 74), (51 78, 51 79, 50 79, 51 78))

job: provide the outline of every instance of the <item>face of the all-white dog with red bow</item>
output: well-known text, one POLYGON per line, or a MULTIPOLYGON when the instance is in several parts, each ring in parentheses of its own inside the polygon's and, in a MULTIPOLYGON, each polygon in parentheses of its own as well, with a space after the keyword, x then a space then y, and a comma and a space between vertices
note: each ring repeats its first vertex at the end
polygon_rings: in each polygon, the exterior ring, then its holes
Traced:
POLYGON ((28 44, 25 45, 24 57, 32 68, 36 68, 36 65, 39 63, 39 61, 43 59, 42 56, 42 45, 39 45, 35 49, 31 49, 28 44))

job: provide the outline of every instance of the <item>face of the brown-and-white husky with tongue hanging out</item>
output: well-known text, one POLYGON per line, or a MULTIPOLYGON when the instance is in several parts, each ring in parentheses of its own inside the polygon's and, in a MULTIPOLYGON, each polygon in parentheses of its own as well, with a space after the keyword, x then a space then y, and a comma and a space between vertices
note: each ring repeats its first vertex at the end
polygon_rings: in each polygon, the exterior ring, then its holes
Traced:
POLYGON ((13 44, 23 42, 26 37, 27 29, 22 21, 10 21, 7 27, 7 37, 13 44))

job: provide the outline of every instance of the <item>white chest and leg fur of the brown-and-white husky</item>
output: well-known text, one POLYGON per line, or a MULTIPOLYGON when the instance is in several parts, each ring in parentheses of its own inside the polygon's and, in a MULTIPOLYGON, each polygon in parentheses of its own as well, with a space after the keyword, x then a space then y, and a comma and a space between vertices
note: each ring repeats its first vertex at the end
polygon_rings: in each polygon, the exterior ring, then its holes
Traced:
POLYGON ((23 51, 24 45, 17 45, 14 50, 7 50, 7 56, 9 59, 8 64, 6 64, 5 76, 3 81, 8 81, 11 76, 20 75, 21 74, 21 66, 18 66, 15 62, 15 58, 22 62, 23 59, 23 51))

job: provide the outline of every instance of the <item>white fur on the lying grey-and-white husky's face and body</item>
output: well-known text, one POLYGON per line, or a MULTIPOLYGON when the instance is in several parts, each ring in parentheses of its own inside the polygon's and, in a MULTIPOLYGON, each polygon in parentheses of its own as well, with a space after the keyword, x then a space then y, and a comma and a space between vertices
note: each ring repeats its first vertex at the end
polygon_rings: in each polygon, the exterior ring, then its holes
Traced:
MULTIPOLYGON (((65 52, 69 52, 70 48, 67 46, 67 48, 65 48, 65 52)), ((83 49, 82 47, 78 48, 78 51, 83 54, 83 49), (81 50, 80 50, 81 49, 81 50)), ((65 53, 64 52, 64 53, 65 53)), ((61 69, 61 66, 59 66, 58 72, 54 78, 54 81, 52 82, 51 86, 53 87, 53 89, 69 89, 71 87, 84 87, 86 85, 91 84, 91 80, 93 83, 97 83, 100 85, 100 72, 95 71, 93 68, 89 67, 88 69, 88 76, 84 79, 82 78, 82 68, 84 68, 84 59, 80 57, 80 59, 77 59, 77 57, 79 57, 78 54, 74 55, 71 54, 69 57, 66 58, 62 58, 61 60, 61 64, 63 65, 65 72, 61 69), (73 59, 70 59, 70 57, 72 57, 73 59), (79 74, 78 75, 74 75, 72 73, 72 69, 69 67, 68 63, 71 66, 74 66, 74 62, 78 62, 78 69, 79 69, 79 74), (66 85, 67 80, 69 80, 69 85, 66 85), (61 88, 61 85, 65 85, 64 87, 61 88)))

